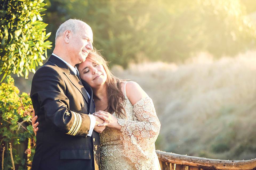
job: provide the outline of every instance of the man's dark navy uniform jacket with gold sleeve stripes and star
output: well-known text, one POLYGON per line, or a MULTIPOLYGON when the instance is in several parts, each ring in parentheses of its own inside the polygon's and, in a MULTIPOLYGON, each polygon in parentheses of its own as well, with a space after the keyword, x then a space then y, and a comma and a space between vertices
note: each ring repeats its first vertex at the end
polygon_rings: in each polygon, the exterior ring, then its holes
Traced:
POLYGON ((30 97, 39 122, 32 169, 99 169, 99 134, 87 136, 88 114, 95 112, 91 87, 51 55, 36 71, 30 97))

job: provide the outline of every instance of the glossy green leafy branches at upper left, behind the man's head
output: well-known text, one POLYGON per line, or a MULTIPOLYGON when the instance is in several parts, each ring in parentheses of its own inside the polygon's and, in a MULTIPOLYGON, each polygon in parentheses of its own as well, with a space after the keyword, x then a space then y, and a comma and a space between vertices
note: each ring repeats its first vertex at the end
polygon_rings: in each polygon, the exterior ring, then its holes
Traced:
POLYGON ((28 77, 46 59, 51 42, 42 22, 43 0, 0 0, 0 74, 28 77), (45 54, 45 56, 43 56, 45 54))

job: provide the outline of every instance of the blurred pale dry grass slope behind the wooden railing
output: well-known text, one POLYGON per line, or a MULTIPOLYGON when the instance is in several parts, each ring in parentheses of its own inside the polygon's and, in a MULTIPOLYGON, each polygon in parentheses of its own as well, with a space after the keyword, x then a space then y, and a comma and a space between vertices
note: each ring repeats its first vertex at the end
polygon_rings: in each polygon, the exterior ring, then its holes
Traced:
POLYGON ((161 121, 157 149, 215 159, 256 158, 256 52, 112 71, 138 82, 161 121))

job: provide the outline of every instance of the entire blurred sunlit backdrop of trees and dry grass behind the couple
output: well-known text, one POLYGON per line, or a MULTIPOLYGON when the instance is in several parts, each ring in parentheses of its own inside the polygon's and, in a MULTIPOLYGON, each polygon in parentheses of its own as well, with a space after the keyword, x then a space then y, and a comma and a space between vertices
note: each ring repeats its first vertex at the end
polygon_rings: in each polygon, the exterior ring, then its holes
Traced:
MULTIPOLYGON (((161 121, 156 149, 256 158, 255 0, 44 3, 53 42, 48 57, 61 23, 76 18, 89 24, 93 45, 114 74, 138 82, 153 99, 161 121)), ((20 91, 30 92, 33 73, 12 77, 20 91)))

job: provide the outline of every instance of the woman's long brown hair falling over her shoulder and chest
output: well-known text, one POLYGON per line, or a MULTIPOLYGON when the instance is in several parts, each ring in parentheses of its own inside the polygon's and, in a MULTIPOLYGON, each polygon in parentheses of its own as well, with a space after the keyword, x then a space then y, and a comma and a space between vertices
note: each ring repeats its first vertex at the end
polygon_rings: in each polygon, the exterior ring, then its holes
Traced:
POLYGON ((118 118, 123 118, 123 116, 126 117, 126 112, 124 108, 125 106, 123 102, 125 100, 125 96, 121 90, 121 83, 124 82, 124 80, 119 79, 118 77, 115 77, 113 75, 113 73, 109 69, 108 62, 98 50, 92 50, 86 57, 86 60, 101 64, 106 71, 108 99, 106 110, 111 114, 115 112, 118 118))

